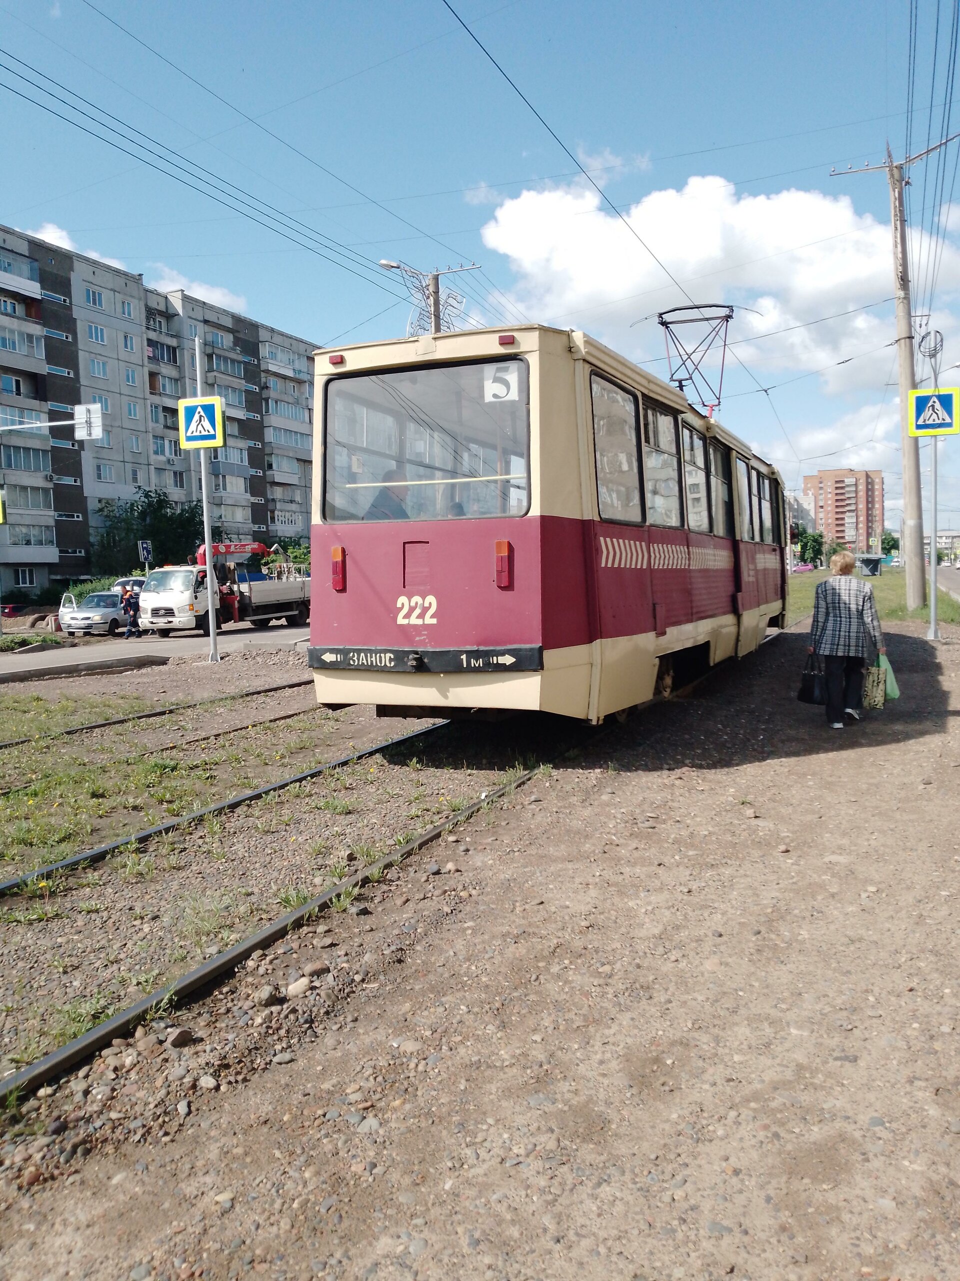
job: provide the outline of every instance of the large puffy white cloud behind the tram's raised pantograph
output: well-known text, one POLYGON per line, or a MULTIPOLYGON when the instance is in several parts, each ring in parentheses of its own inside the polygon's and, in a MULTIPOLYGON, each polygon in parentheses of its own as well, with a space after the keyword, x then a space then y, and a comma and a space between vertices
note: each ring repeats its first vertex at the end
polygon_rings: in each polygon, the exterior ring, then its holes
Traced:
MULTIPOLYGON (((737 311, 731 341, 791 329, 735 348, 758 377, 782 378, 783 371, 806 373, 856 356, 822 375, 824 391, 877 388, 887 380, 892 348, 886 343, 893 337, 888 307, 791 328, 892 295, 890 229, 858 214, 847 195, 787 190, 737 196, 721 177, 694 177, 680 191, 650 192, 623 216, 628 227, 582 186, 524 191, 498 206, 483 238, 509 259, 526 314, 586 328, 634 359, 662 355, 655 313, 689 301, 640 237, 695 301, 759 313, 737 311)), ((950 243, 938 288, 941 296, 960 288, 960 252, 950 243)), ((943 313, 937 323, 956 347, 954 316, 943 313)), ((664 366, 653 370, 663 373, 664 366)))

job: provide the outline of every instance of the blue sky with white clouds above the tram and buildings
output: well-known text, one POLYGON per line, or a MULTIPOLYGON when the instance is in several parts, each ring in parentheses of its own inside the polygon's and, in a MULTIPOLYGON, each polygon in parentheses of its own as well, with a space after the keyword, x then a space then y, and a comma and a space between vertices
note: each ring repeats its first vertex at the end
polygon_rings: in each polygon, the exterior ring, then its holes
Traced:
MULTIPOLYGON (((831 169, 960 128, 952 6, 914 3, 911 41, 909 0, 452 0, 548 129, 443 0, 0 0, 0 222, 319 345, 406 332, 380 259, 476 263, 463 324, 586 329, 659 377, 657 313, 732 305, 717 416, 791 489, 882 468, 897 529, 888 186, 831 169)), ((942 386, 959 147, 909 188, 942 386)), ((960 529, 960 443, 940 468, 960 529)))

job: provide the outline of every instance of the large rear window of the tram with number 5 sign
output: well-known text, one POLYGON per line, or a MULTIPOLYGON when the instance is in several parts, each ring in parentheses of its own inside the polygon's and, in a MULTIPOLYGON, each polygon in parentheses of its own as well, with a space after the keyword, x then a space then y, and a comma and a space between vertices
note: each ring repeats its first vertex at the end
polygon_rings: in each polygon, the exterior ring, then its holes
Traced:
POLYGON ((529 404, 524 360, 330 379, 324 519, 525 515, 529 404))

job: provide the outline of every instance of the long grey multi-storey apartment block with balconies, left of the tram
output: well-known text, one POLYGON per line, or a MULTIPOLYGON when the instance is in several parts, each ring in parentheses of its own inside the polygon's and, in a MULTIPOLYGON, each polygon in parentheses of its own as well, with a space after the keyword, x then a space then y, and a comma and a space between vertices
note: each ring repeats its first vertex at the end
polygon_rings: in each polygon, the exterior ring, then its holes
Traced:
POLYGON ((214 523, 229 539, 307 538, 314 347, 0 227, 0 589, 88 575, 102 500, 200 497, 198 453, 180 452, 177 427, 178 398, 198 387, 227 416, 211 455, 214 523), (95 402, 104 437, 76 442, 58 423, 95 402))

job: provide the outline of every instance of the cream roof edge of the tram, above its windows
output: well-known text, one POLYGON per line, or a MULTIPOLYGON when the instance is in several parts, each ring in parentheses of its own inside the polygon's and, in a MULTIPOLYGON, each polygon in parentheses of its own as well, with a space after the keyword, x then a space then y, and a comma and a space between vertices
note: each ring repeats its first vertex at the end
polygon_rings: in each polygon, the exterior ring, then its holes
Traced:
MULTIPOLYGON (((755 453, 750 446, 735 436, 728 428, 719 423, 716 418, 707 418, 700 410, 695 409, 690 401, 672 383, 664 382, 655 374, 649 373, 641 365, 635 364, 626 356, 621 356, 620 352, 613 351, 612 347, 607 347, 604 343, 599 342, 596 338, 591 338, 590 334, 585 333, 582 329, 557 329, 553 325, 536 324, 535 322, 529 322, 525 324, 516 325, 498 325, 486 329, 458 329, 452 333, 439 333, 439 334, 422 334, 415 338, 381 338, 378 342, 356 342, 344 346, 335 347, 321 347, 314 352, 315 360, 321 356, 329 356, 333 352, 357 352, 365 351, 371 354, 371 359, 364 361, 365 368, 376 368, 378 356, 387 356, 389 351, 388 360, 385 364, 406 364, 410 360, 422 360, 424 357, 436 356, 440 359, 457 359, 457 356, 466 356, 467 359, 477 359, 484 355, 493 355, 490 352, 489 339, 492 337, 499 338, 503 333, 511 334, 552 334, 559 338, 566 338, 570 346, 570 351, 575 356, 579 356, 591 365, 605 370, 611 377, 626 383, 630 387, 636 388, 641 395, 646 393, 649 397, 660 401, 660 404, 669 405, 676 409, 691 427, 696 427, 698 430, 703 432, 707 437, 717 441, 722 441, 724 445, 731 446, 744 457, 750 459, 755 464, 759 464, 769 475, 776 477, 778 480, 782 478, 778 469, 768 462, 760 455, 755 453), (448 352, 442 348, 449 347, 448 352)), ((518 341, 515 347, 506 351, 499 345, 497 351, 502 355, 517 354, 521 355, 524 350, 535 350, 539 347, 539 342, 524 343, 518 341)), ((319 365, 315 364, 319 369, 319 365)), ((343 370, 347 373, 348 370, 343 370)), ((358 373, 356 365, 349 369, 351 373, 358 373)), ((337 377, 340 370, 334 366, 324 373, 323 377, 337 377)))

